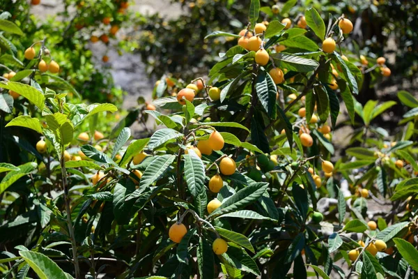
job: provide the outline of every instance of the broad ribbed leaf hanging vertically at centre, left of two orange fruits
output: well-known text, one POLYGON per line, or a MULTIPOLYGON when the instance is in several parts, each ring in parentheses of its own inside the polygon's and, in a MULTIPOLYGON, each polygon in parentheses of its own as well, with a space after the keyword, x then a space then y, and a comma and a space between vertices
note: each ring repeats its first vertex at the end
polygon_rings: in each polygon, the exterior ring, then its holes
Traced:
POLYGON ((205 166, 201 158, 192 150, 189 150, 189 154, 185 154, 184 158, 187 187, 192 196, 197 197, 205 186, 205 166))

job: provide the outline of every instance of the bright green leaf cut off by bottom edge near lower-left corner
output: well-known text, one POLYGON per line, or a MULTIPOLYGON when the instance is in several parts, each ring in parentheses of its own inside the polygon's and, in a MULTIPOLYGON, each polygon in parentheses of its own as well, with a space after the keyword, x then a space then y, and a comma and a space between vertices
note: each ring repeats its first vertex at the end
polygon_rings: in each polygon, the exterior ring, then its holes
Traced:
POLYGON ((19 255, 31 266, 40 279, 68 278, 58 264, 45 255, 32 251, 20 251, 19 255))

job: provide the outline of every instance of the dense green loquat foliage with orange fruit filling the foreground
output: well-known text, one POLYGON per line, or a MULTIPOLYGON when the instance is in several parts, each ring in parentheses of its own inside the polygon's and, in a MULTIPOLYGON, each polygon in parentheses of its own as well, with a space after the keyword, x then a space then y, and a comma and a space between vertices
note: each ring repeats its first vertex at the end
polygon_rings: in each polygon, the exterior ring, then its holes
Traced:
MULTIPOLYGON (((359 102, 366 75, 391 76, 385 57, 357 48, 340 8, 324 22, 326 7, 296 3, 252 0, 242 30, 189 33, 220 43, 209 72, 161 73, 153 103, 116 123, 115 105, 75 98, 76 66, 61 70, 84 43, 55 48, 39 29, 32 45, 13 10, 1 14, 2 276, 414 278, 418 100, 359 102), (396 104, 408 112, 389 135, 376 119, 396 104), (148 117, 158 129, 132 140, 148 117), (337 125, 353 127, 341 157, 337 125)), ((114 5, 116 20, 126 3, 114 5)), ((103 20, 79 13, 80 30, 103 20)))

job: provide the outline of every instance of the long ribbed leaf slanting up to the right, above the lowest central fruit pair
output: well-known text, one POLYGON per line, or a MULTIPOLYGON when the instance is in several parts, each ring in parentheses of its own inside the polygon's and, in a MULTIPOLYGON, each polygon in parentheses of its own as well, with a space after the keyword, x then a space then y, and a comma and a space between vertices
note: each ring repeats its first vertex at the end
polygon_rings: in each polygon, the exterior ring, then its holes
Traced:
POLYGON ((226 199, 221 206, 210 214, 210 217, 217 217, 225 213, 238 211, 245 206, 256 202, 265 192, 268 183, 254 183, 251 186, 242 188, 237 193, 226 199))

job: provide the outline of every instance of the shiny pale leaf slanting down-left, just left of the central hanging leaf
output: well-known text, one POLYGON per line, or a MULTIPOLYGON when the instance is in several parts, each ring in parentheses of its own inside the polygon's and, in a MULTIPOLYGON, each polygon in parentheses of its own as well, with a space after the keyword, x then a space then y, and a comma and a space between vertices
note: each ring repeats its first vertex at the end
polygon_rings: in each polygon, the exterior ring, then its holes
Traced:
POLYGON ((160 176, 169 169, 174 159, 176 159, 175 155, 157 156, 157 158, 145 169, 144 174, 142 174, 139 190, 144 191, 145 188, 148 188, 148 186, 160 179, 160 176))

